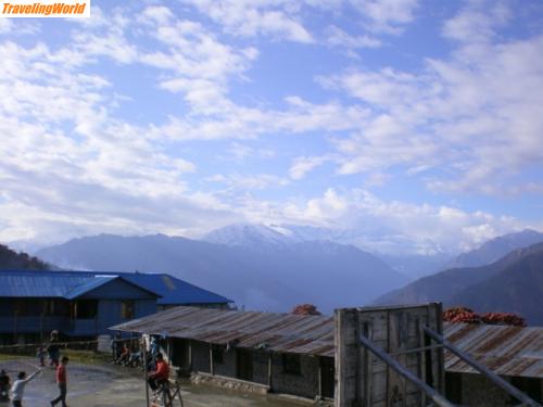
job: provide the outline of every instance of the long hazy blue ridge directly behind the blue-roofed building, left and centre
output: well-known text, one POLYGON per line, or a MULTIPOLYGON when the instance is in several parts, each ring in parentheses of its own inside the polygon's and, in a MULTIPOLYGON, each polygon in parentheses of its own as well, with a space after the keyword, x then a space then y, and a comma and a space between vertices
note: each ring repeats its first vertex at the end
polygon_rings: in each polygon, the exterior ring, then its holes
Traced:
MULTIPOLYGON (((247 230, 255 233, 255 230, 247 230)), ((262 236, 275 237, 260 230, 262 236)), ((251 242, 235 233, 237 242, 251 242)), ((274 240, 274 239, 273 239, 274 240)), ((332 242, 211 243, 164 234, 101 234, 43 249, 41 258, 90 270, 171 272, 249 308, 288 311, 312 303, 324 313, 364 305, 406 279, 369 253, 332 242)))

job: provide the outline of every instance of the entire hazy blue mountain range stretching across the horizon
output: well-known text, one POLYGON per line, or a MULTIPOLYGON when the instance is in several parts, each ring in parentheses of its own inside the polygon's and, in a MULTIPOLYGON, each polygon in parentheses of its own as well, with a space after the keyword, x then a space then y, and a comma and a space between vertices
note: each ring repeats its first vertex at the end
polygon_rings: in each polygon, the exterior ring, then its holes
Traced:
MULTIPOLYGON (((530 246, 543 242, 543 233, 509 233, 453 260, 440 253, 384 256, 325 240, 327 236, 319 228, 239 224, 201 240, 100 234, 73 239, 37 255, 70 269, 169 272, 247 308, 285 311, 313 303, 330 313, 368 303, 441 301, 478 311, 518 311, 531 323, 543 323, 535 306, 543 292, 543 243, 530 246), (453 267, 435 271, 443 265, 453 267), (406 277, 432 271, 413 282, 406 277)), ((1 255, 0 250, 0 260, 1 255)), ((27 264, 11 262, 9 268, 48 267, 24 254, 13 255, 27 264)))

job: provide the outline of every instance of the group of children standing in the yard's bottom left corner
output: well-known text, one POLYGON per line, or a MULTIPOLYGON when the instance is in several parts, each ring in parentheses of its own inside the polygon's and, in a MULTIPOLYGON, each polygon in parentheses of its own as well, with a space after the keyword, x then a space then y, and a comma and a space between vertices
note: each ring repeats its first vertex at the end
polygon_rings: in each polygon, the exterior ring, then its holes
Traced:
MULTIPOLYGON (((47 353, 49 353, 51 366, 56 370, 55 379, 60 394, 55 399, 50 402, 50 405, 55 406, 58 403, 62 403, 62 407, 66 407, 66 365, 68 363, 68 357, 64 356, 59 360, 60 348, 58 342, 58 333, 53 331, 51 333, 51 342, 47 347, 47 353)), ((20 371, 13 384, 11 384, 11 379, 5 370, 2 369, 0 371, 0 402, 11 400, 13 407, 23 406, 23 396, 26 385, 30 380, 36 378, 42 371, 41 368, 46 366, 46 349, 43 347, 38 349, 37 357, 40 361, 40 368, 30 376, 27 376, 25 371, 20 371)))

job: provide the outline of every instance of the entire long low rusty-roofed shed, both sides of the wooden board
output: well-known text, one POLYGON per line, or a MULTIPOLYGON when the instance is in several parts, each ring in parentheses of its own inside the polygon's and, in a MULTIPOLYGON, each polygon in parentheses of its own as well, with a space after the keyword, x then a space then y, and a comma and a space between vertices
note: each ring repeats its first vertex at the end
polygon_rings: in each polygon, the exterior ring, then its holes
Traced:
MULTIPOLYGON (((249 382, 265 391, 306 398, 333 397, 333 317, 181 306, 112 329, 159 335, 171 363, 197 377, 249 382)), ((543 328, 445 323, 444 335, 532 398, 541 399, 543 328)), ((508 405, 509 396, 447 352, 445 369, 451 400, 508 405)))

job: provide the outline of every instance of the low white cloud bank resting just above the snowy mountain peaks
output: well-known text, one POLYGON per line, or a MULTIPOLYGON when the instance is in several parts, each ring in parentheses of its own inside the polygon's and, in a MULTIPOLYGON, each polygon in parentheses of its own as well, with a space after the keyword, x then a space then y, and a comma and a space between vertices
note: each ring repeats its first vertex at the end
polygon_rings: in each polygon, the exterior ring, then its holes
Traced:
MULTIPOLYGON (((328 189, 321 196, 290 202, 270 209, 248 202, 253 217, 262 222, 313 225, 356 231, 356 242, 366 249, 389 253, 441 250, 466 251, 482 241, 519 229, 514 218, 468 213, 450 206, 384 202, 365 190, 328 189)), ((251 213, 250 209, 245 212, 251 213)))

